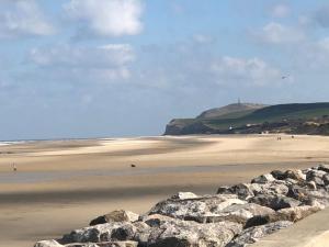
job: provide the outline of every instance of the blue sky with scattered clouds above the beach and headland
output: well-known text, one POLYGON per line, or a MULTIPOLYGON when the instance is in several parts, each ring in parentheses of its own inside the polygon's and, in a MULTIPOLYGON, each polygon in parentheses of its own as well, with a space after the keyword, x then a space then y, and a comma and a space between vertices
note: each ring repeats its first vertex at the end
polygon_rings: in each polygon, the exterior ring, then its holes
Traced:
POLYGON ((326 0, 0 0, 0 139, 160 135, 329 101, 326 0), (285 79, 282 79, 285 77, 285 79))

